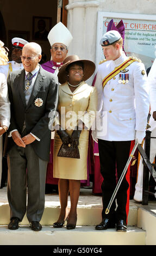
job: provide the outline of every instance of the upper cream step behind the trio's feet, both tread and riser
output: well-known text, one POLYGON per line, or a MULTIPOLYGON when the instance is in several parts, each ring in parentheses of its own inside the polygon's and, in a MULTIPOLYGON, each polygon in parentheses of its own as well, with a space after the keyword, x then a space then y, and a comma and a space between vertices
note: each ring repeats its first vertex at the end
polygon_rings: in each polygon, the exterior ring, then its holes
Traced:
MULTIPOLYGON (((70 197, 68 197, 68 208, 70 209, 70 197)), ((60 202, 58 193, 45 195, 45 210, 41 219, 42 225, 52 225, 58 220, 60 202)), ((93 195, 92 190, 81 188, 78 200, 77 215, 78 225, 96 225, 101 222, 102 197, 93 195)), ((136 226, 138 206, 130 200, 128 225, 136 226)), ((0 190, 0 225, 8 225, 10 220, 10 209, 7 198, 7 187, 0 190)), ((27 217, 24 216, 22 225, 28 225, 27 217)))

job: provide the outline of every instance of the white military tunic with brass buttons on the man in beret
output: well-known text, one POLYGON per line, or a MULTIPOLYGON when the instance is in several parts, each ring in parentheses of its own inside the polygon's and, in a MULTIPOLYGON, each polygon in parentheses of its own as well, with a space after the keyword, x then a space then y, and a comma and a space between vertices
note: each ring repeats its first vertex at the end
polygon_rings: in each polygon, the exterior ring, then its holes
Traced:
POLYGON ((118 59, 105 61, 98 66, 95 82, 98 93, 98 111, 105 113, 107 117, 104 119, 101 131, 96 126, 96 137, 99 139, 132 141, 135 139, 135 130, 145 131, 146 129, 149 97, 147 75, 143 63, 133 62, 127 66, 127 72, 120 72, 111 78, 104 88, 102 86, 104 78, 127 59, 128 57, 123 52, 118 59), (128 74, 128 83, 118 82, 120 74, 121 76, 128 74))

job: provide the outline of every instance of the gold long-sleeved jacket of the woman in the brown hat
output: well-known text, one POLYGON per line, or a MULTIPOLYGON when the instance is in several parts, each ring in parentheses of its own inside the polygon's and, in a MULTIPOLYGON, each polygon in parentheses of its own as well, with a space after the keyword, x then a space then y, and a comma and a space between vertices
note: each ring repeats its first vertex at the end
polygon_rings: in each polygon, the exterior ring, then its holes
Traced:
POLYGON ((82 82, 72 93, 67 83, 59 87, 59 117, 55 125, 60 124, 64 130, 73 130, 78 125, 78 120, 90 129, 96 117, 97 91, 95 87, 82 82))

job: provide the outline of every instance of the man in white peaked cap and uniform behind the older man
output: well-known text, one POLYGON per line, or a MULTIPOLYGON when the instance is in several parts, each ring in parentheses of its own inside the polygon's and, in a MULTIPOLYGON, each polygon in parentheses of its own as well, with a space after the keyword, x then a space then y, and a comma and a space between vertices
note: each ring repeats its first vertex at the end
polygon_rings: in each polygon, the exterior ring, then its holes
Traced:
POLYGON ((11 52, 12 60, 8 62, 8 65, 0 66, 0 72, 5 75, 6 79, 8 78, 10 72, 23 69, 23 64, 21 60, 22 48, 25 44, 27 44, 27 41, 22 38, 13 38, 11 42, 13 45, 13 49, 11 52))

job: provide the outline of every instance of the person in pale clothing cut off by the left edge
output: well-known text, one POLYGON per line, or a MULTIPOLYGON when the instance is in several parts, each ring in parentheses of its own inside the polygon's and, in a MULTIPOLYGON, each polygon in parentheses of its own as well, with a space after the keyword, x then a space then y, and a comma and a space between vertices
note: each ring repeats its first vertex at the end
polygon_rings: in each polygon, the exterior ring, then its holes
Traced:
MULTIPOLYGON (((0 65, 7 65, 8 54, 0 41, 0 65)), ((0 184, 2 177, 2 151, 3 138, 2 135, 8 130, 10 125, 10 102, 8 99, 8 87, 5 75, 0 73, 0 184)))

